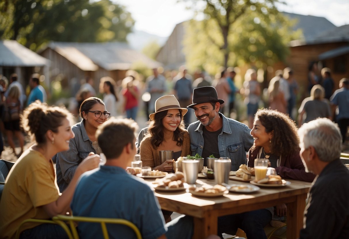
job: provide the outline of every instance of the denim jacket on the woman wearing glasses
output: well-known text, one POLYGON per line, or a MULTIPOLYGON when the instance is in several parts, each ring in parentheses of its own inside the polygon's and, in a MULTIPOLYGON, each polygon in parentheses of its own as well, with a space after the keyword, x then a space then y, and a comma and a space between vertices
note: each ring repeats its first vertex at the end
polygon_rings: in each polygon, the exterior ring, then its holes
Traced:
POLYGON ((70 139, 69 150, 56 155, 56 174, 59 191, 63 192, 72 180, 77 165, 85 159, 90 152, 96 153, 92 141, 87 136, 83 121, 73 125, 75 137, 70 139))

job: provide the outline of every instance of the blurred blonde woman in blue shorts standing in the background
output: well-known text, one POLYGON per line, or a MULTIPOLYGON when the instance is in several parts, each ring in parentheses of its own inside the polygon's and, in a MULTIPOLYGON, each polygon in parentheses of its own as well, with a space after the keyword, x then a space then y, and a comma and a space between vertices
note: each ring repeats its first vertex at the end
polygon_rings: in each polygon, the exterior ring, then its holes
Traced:
POLYGON ((261 88, 257 81, 257 72, 254 69, 248 69, 245 74, 244 88, 242 94, 245 94, 245 104, 247 105, 248 127, 253 127, 254 114, 258 110, 261 88))

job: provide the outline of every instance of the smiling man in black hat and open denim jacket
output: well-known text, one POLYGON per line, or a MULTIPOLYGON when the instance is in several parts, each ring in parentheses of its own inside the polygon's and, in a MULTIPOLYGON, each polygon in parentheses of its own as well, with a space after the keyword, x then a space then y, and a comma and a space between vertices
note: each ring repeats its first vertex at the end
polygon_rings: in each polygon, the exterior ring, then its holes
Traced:
POLYGON ((187 107, 194 109, 198 121, 188 127, 191 151, 204 159, 212 154, 216 158, 229 157, 231 170, 237 171, 240 164, 247 164, 246 152, 253 145, 253 138, 245 124, 218 113, 223 103, 212 86, 193 90, 193 103, 187 107))

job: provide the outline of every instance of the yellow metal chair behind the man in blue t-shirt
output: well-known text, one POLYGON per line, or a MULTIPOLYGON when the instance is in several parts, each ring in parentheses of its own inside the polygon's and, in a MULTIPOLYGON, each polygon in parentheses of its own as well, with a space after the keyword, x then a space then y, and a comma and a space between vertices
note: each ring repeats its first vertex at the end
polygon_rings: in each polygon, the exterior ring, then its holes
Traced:
POLYGON ((67 227, 64 221, 68 221, 70 225, 70 230, 72 231, 72 235, 74 239, 79 239, 79 234, 75 228, 75 222, 90 222, 90 223, 100 223, 102 227, 103 237, 105 239, 109 239, 108 230, 106 228, 106 224, 122 224, 131 228, 136 234, 137 239, 142 239, 141 233, 132 222, 127 221, 126 219, 120 218, 100 218, 100 217, 80 217, 80 216, 64 216, 58 215, 53 217, 53 221, 57 222, 63 228, 67 227))

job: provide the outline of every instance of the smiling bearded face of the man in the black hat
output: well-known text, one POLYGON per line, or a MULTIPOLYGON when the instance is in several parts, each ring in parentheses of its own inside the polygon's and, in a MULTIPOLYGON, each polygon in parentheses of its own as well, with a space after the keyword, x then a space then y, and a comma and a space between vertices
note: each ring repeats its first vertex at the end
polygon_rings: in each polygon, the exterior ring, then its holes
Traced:
POLYGON ((215 108, 210 102, 195 105, 193 107, 196 118, 203 126, 210 125, 216 118, 219 111, 219 103, 216 102, 215 108), (218 105, 217 105, 218 104, 218 105))

